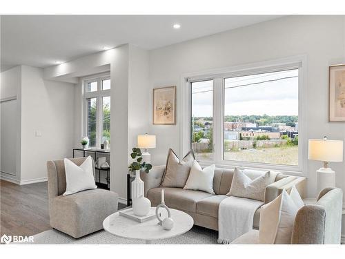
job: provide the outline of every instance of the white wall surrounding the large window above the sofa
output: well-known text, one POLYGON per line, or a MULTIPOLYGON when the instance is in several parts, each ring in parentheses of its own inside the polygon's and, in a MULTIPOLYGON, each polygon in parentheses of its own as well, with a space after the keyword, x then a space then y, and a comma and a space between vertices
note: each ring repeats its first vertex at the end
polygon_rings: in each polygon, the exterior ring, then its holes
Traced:
MULTIPOLYGON (((283 17, 152 50, 150 86, 177 85, 179 97, 180 78, 184 73, 307 55, 307 137, 328 135, 330 139, 345 140, 345 124, 328 122, 328 66, 345 61, 344 24, 341 16, 283 17)), ((178 108, 179 105, 181 102, 177 99, 178 108)), ((178 113, 175 126, 152 125, 151 119, 149 131, 157 135, 157 148, 152 150, 153 164, 164 164, 170 147, 179 153, 179 119, 181 114, 178 113)), ((308 195, 315 195, 315 171, 322 164, 307 163, 308 195)), ((345 162, 331 163, 331 167, 337 171, 337 186, 345 189, 345 162)))

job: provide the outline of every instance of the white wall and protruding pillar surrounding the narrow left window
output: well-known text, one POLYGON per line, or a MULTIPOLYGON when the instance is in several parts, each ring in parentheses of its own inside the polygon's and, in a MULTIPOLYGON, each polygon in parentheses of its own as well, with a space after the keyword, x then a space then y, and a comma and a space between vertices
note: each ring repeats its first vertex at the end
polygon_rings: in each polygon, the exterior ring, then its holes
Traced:
MULTIPOLYGON (((128 44, 44 69, 46 79, 75 81, 110 64, 111 79, 111 155, 110 190, 126 199, 126 174, 130 150, 138 134, 148 128, 148 51, 128 44)), ((81 133, 81 86, 75 88, 75 144, 81 133)))

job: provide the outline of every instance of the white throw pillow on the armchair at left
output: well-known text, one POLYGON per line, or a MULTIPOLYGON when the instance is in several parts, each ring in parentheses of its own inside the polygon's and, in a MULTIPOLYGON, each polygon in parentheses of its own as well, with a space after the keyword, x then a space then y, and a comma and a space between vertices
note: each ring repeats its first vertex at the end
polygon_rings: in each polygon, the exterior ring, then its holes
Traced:
POLYGON ((63 195, 70 195, 79 191, 97 189, 93 175, 92 158, 88 156, 80 166, 65 158, 66 191, 63 195))

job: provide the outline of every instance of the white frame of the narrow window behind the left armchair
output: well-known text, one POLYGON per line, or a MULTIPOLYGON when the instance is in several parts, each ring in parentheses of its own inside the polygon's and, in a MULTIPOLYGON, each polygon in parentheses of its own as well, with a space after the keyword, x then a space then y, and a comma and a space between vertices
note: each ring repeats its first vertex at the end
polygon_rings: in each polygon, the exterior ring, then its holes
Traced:
MULTIPOLYGON (((100 148, 103 132, 103 97, 110 97, 110 89, 102 90, 102 81, 110 79, 110 74, 95 75, 82 79, 83 88, 83 135, 88 136, 88 99, 96 98, 96 146, 90 148, 100 148), (97 81, 97 90, 88 92, 88 83, 97 81)), ((111 102, 111 99, 110 99, 111 102)))

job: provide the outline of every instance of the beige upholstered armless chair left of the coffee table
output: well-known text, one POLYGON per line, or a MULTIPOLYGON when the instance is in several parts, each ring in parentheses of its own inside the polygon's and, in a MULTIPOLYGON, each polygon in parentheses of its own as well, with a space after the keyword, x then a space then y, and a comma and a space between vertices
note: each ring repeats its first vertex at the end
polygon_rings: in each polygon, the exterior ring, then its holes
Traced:
MULTIPOLYGON (((80 166, 85 159, 70 160, 80 166)), ((47 169, 50 226, 73 238, 103 229, 103 220, 117 211, 117 193, 92 189, 63 196, 66 191, 63 160, 48 161, 47 169)), ((95 175, 95 166, 93 173, 95 175)))

